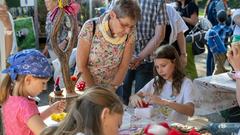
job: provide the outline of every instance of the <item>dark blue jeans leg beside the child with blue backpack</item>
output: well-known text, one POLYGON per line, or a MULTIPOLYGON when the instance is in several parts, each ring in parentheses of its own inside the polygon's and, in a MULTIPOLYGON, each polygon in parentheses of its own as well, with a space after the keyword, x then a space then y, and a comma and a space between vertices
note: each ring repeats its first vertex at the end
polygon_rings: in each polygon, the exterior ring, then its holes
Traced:
POLYGON ((208 49, 208 54, 207 54, 207 76, 212 75, 214 71, 214 59, 213 59, 213 54, 210 50, 210 48, 207 46, 208 49))

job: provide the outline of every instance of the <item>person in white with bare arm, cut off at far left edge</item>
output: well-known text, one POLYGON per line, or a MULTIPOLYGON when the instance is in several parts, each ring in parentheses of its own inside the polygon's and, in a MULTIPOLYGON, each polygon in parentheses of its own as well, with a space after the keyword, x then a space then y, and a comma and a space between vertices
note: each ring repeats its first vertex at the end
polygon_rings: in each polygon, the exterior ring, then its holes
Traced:
MULTIPOLYGON (((13 19, 6 5, 0 5, 0 71, 6 68, 6 59, 17 52, 17 42, 14 34, 13 19)), ((0 72, 0 82, 2 81, 0 72)))

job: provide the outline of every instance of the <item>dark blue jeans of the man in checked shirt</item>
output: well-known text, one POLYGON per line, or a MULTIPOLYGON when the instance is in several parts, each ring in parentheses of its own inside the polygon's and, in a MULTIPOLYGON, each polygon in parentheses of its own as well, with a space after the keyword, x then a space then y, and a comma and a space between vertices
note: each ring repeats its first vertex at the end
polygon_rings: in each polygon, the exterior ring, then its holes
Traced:
POLYGON ((128 70, 123 83, 123 101, 128 105, 132 92, 132 83, 135 80, 135 90, 137 93, 153 78, 153 62, 141 64, 136 70, 128 70))

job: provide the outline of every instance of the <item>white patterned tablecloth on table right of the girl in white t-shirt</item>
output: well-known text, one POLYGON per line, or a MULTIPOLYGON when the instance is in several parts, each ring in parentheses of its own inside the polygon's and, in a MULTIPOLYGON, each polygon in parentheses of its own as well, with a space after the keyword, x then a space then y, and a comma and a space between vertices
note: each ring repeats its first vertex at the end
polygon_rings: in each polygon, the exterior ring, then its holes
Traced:
POLYGON ((193 81, 195 115, 208 115, 237 106, 236 82, 227 73, 193 81))

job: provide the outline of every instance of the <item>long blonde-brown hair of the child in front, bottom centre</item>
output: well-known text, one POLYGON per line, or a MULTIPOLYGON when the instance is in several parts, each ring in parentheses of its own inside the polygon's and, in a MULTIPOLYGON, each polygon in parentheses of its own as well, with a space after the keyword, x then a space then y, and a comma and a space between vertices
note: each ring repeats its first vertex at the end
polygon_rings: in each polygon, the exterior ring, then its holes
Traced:
MULTIPOLYGON (((123 114, 123 104, 115 93, 102 87, 94 87, 74 102, 58 128, 48 128, 48 131, 43 132, 52 135, 74 135, 78 132, 102 135, 101 113, 104 108, 109 108, 110 113, 123 114)), ((44 133, 42 135, 46 135, 44 133)))

